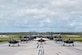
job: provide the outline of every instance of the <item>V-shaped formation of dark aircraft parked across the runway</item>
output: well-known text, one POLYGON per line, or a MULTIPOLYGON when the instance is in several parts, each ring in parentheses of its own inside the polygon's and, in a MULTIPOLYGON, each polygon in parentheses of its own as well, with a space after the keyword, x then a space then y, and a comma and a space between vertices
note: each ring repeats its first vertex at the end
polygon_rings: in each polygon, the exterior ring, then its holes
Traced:
MULTIPOLYGON (((18 44, 18 46, 20 46, 20 42, 21 43, 23 43, 23 42, 28 42, 28 41, 31 41, 31 40, 34 40, 34 39, 36 39, 37 37, 36 36, 32 36, 32 37, 27 37, 27 36, 25 36, 25 37, 20 37, 20 40, 14 40, 14 39, 11 39, 11 40, 9 40, 9 46, 11 46, 11 44, 18 44)), ((56 43, 57 42, 63 42, 63 46, 65 46, 66 44, 72 44, 72 46, 74 46, 74 40, 72 40, 72 39, 68 39, 68 40, 63 40, 61 37, 50 37, 50 36, 48 36, 48 37, 46 37, 47 39, 49 39, 49 40, 55 40, 56 41, 56 43)), ((45 40, 45 39, 43 39, 43 37, 40 37, 40 39, 39 40, 37 40, 38 42, 45 42, 45 41, 47 41, 47 40, 45 40)))

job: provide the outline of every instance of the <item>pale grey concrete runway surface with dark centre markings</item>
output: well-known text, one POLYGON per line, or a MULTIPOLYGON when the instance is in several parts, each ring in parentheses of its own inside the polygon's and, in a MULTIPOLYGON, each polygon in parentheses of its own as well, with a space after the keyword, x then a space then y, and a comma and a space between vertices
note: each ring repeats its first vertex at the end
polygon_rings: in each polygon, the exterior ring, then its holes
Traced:
POLYGON ((63 46, 61 42, 48 40, 45 43, 38 43, 37 41, 29 41, 27 43, 20 43, 20 46, 9 43, 0 43, 0 55, 82 55, 82 43, 75 42, 75 46, 63 46), (38 48, 37 48, 38 46, 38 48))

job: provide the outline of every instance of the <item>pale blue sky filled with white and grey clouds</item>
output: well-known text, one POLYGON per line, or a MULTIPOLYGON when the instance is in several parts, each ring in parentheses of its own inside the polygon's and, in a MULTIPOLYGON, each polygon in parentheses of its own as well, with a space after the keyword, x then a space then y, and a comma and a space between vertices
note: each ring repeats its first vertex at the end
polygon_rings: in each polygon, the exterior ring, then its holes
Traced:
POLYGON ((82 0, 0 0, 0 32, 82 32, 82 0))

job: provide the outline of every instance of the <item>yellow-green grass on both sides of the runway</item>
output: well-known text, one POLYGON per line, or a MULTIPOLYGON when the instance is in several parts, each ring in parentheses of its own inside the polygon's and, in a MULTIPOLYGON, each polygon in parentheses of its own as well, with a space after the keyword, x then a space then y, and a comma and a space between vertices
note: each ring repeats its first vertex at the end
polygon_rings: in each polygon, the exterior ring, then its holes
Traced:
MULTIPOLYGON (((10 39, 15 39, 15 40, 19 40, 20 35, 4 35, 4 36, 0 36, 0 42, 5 42, 5 41, 9 41, 10 39)), ((82 35, 62 35, 62 38, 64 40, 66 39, 73 39, 75 41, 80 41, 82 42, 82 35)))

